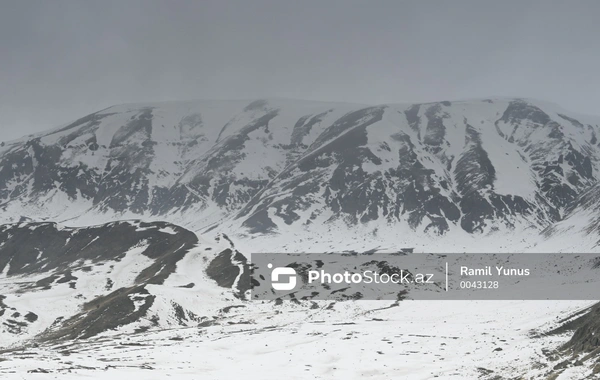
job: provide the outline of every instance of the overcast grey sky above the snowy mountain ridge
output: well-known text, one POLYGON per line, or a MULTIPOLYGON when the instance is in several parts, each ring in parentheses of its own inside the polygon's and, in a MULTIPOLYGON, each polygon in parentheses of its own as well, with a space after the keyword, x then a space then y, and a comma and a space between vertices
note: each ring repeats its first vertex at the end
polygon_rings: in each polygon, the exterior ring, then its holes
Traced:
POLYGON ((0 140, 125 102, 488 96, 600 114, 600 1, 0 0, 0 140))

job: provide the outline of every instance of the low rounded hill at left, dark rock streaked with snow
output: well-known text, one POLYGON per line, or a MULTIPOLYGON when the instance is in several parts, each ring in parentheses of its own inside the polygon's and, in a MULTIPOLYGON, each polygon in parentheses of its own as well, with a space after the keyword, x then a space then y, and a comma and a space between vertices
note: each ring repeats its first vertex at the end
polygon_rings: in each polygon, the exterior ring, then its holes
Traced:
POLYGON ((159 222, 0 226, 2 345, 196 325, 243 294, 235 255, 159 222))

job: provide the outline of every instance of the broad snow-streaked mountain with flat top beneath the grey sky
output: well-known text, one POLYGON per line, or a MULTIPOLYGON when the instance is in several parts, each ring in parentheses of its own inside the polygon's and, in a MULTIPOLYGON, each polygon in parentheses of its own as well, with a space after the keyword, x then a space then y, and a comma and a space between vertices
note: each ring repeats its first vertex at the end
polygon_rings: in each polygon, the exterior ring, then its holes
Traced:
POLYGON ((598 125, 525 99, 122 105, 3 143, 0 209, 240 236, 537 233, 597 182, 598 125))

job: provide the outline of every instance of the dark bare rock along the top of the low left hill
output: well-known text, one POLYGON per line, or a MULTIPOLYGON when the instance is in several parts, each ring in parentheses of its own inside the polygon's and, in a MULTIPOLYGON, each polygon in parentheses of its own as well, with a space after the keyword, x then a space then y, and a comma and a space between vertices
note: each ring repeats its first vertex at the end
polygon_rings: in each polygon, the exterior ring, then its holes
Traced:
MULTIPOLYGON (((0 273, 8 276, 53 273, 71 277, 77 263, 119 260, 141 241, 142 253, 156 260, 140 274, 138 281, 161 283, 175 264, 198 241, 196 235, 168 223, 116 222, 89 228, 58 228, 54 223, 0 226, 0 273), (161 228, 176 233, 161 233, 161 228)), ((85 266, 87 264, 81 264, 85 266)), ((60 280, 59 280, 60 281, 60 280)))

